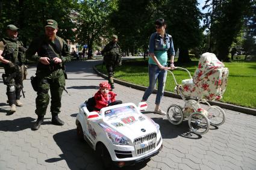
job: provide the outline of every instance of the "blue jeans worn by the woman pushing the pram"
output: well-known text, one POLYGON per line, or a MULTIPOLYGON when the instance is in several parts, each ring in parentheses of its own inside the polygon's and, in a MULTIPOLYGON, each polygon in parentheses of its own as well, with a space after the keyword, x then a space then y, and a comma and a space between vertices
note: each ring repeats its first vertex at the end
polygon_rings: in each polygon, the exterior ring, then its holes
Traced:
POLYGON ((142 97, 142 100, 145 100, 145 101, 148 100, 148 97, 154 91, 155 85, 158 80, 157 98, 155 99, 155 105, 159 105, 164 94, 164 86, 165 86, 165 81, 167 76, 167 70, 161 70, 157 65, 149 64, 148 73, 149 73, 149 87, 146 89, 142 97))

